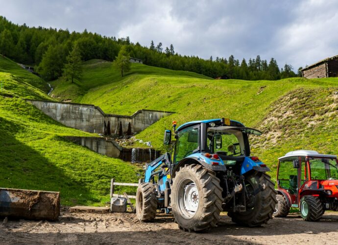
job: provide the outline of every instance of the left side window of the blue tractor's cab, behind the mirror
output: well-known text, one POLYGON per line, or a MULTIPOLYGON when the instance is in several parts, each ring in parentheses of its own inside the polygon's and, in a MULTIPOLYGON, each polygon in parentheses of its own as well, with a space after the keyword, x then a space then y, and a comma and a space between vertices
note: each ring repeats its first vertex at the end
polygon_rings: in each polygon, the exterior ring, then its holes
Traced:
POLYGON ((199 128, 189 127, 178 133, 175 163, 189 156, 199 146, 199 128))

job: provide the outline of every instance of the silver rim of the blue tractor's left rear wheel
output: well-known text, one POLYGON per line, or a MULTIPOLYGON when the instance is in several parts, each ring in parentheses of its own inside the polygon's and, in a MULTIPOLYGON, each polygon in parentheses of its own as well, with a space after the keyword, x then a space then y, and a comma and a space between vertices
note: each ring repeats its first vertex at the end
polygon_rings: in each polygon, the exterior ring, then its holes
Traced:
POLYGON ((184 179, 178 186, 177 206, 182 217, 191 219, 196 214, 199 196, 196 184, 191 179, 184 179))

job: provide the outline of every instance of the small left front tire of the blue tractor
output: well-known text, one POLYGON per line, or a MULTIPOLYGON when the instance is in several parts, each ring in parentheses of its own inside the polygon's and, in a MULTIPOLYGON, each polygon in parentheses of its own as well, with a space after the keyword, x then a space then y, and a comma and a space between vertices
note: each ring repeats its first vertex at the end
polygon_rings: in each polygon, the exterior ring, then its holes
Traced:
POLYGON ((152 183, 141 183, 136 193, 136 216, 139 221, 153 221, 156 216, 157 197, 152 183))

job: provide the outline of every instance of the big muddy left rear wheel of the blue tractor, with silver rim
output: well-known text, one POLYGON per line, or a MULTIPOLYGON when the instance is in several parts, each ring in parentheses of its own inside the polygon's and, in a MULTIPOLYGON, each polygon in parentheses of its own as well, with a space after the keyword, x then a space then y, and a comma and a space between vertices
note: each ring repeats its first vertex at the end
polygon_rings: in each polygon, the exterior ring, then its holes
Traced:
POLYGON ((176 172, 171 207, 180 229, 191 232, 215 227, 222 200, 222 188, 215 172, 197 164, 185 165, 176 172))

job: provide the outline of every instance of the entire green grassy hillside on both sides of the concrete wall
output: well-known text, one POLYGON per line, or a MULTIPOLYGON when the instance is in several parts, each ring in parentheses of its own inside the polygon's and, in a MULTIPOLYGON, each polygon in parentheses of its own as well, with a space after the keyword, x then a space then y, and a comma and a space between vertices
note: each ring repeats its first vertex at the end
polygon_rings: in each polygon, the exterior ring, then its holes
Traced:
MULTIPOLYGON (((8 65, 9 60, 1 60, 8 65)), ((61 191, 62 203, 108 200, 109 179, 136 182, 142 171, 118 159, 74 145, 64 135, 91 135, 51 120, 22 98, 52 99, 46 83, 15 67, 2 69, 0 97, 0 186, 61 191), (8 82, 10 81, 10 82, 8 82), (8 85, 13 84, 13 85, 8 85), (35 87, 35 85, 37 87, 35 87), (3 97, 5 96, 5 97, 3 97), (14 96, 14 98, 8 98, 14 96)), ((14 66, 15 65, 15 66, 14 66)), ((53 99, 92 103, 106 113, 139 109, 174 111, 136 137, 163 149, 163 131, 191 120, 229 117, 265 132, 252 138, 252 152, 273 170, 277 158, 294 149, 338 152, 338 78, 278 81, 214 80, 187 72, 133 64, 125 77, 110 62, 84 63, 81 82, 52 82, 53 99)))

